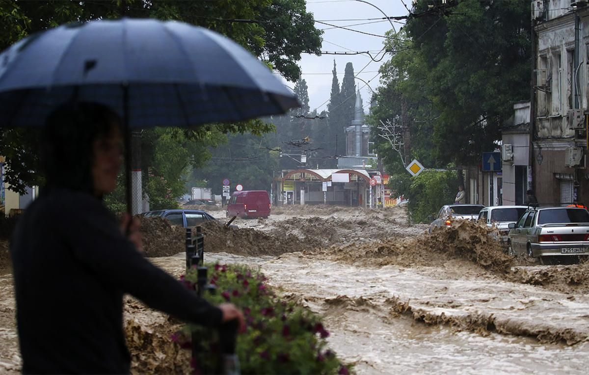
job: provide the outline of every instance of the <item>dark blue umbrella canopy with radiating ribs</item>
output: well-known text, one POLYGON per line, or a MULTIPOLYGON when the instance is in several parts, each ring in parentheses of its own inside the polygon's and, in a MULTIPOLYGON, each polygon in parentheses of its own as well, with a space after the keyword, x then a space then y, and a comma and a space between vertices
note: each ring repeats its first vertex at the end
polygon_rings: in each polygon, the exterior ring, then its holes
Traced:
POLYGON ((0 126, 43 125, 71 99, 108 105, 131 128, 240 121, 299 106, 246 49, 183 22, 63 25, 0 54, 0 126))

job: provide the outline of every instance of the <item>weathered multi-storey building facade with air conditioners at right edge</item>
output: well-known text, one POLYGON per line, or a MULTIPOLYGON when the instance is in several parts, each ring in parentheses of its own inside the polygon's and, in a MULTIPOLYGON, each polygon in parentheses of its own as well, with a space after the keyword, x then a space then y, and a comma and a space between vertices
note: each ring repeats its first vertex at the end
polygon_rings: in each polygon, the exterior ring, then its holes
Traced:
POLYGON ((530 179, 541 204, 589 202, 587 5, 586 0, 532 1, 530 179))

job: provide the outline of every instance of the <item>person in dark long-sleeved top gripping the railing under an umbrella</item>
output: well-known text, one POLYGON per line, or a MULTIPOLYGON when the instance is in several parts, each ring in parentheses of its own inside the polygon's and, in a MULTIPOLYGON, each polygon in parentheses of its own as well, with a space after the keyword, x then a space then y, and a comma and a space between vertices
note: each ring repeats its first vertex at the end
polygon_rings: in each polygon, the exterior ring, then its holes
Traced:
POLYGON ((129 373, 124 293, 193 324, 237 319, 244 330, 233 304, 211 306, 145 259, 137 219, 118 227, 102 204, 121 145, 120 120, 104 105, 66 104, 47 120, 47 185, 11 241, 23 373, 129 373))

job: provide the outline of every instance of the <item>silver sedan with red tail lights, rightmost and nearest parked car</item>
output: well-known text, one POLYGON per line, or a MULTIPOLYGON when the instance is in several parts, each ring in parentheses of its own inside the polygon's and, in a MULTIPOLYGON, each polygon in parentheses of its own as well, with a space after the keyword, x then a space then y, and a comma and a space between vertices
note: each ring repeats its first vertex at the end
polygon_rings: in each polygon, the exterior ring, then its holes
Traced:
POLYGON ((589 211, 577 207, 528 208, 509 224, 509 253, 545 257, 589 254, 589 211))

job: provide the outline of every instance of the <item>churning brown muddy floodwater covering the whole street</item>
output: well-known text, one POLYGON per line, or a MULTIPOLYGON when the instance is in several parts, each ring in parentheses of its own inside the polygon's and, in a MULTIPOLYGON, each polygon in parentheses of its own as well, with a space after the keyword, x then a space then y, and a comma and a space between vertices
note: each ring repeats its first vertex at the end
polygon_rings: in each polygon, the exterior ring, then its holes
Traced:
MULTIPOLYGON (((401 207, 287 207, 235 223, 203 228, 205 261, 260 270, 280 297, 321 314, 330 349, 359 374, 587 373, 589 264, 511 258, 476 224, 428 234, 401 207)), ((151 261, 180 276, 183 230, 145 228, 151 261)), ((0 372, 19 369, 11 283, 0 278, 0 372)), ((134 373, 185 360, 168 347, 166 317, 128 300, 125 321, 134 373), (146 337, 153 359, 134 352, 146 337)))

